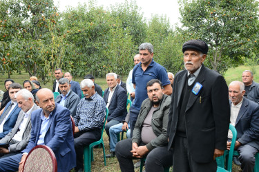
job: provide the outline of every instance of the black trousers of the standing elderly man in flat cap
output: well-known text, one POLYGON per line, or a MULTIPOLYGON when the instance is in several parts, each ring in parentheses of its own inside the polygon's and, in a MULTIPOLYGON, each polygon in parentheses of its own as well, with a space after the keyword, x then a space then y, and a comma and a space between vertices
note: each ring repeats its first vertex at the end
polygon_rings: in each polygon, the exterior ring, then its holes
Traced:
MULTIPOLYGON (((202 142, 202 140, 200 140, 202 142)), ((226 143, 227 144, 227 143, 226 143)), ((215 160, 209 163, 198 163, 191 157, 187 138, 175 136, 173 143, 173 172, 215 172, 215 160)))

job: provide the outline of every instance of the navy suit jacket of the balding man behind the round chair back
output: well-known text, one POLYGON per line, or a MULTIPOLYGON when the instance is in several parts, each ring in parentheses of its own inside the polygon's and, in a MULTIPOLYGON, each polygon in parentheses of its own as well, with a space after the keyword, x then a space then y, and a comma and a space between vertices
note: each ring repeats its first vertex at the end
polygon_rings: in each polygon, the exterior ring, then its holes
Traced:
MULTIPOLYGON (((37 146, 41 130, 42 109, 32 111, 32 130, 29 143, 22 152, 27 152, 37 146)), ((56 107, 50 114, 44 143, 50 147, 57 158, 57 171, 70 171, 76 166, 76 155, 70 111, 56 103, 56 107)))

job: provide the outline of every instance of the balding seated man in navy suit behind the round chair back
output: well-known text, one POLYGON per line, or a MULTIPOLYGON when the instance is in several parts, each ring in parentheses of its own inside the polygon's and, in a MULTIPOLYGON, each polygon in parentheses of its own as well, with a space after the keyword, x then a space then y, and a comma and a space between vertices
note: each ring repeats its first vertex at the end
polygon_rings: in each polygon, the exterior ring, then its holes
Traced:
POLYGON ((21 153, 0 159, 0 171, 21 171, 30 150, 44 144, 55 153, 57 171, 70 171, 75 167, 75 149, 73 144, 70 111, 55 104, 50 89, 39 89, 36 100, 41 109, 32 112, 32 130, 29 143, 21 153))

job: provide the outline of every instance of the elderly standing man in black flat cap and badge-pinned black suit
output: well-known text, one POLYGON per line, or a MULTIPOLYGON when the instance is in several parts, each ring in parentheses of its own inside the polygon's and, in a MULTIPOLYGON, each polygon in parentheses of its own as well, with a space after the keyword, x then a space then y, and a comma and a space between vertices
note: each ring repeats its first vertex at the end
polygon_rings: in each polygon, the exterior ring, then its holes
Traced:
POLYGON ((229 96, 224 78, 202 64, 207 43, 184 43, 185 70, 175 75, 169 111, 169 149, 173 172, 216 171, 215 158, 227 149, 229 96))

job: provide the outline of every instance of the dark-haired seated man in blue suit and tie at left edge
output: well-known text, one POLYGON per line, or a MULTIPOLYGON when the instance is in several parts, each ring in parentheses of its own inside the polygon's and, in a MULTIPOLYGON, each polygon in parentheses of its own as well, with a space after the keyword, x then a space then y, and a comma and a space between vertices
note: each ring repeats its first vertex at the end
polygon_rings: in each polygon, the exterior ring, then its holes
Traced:
POLYGON ((18 107, 15 94, 23 87, 19 83, 12 83, 8 86, 10 102, 6 104, 3 114, 0 116, 0 139, 4 138, 12 128, 15 127, 15 122, 18 118, 21 108, 18 107))

